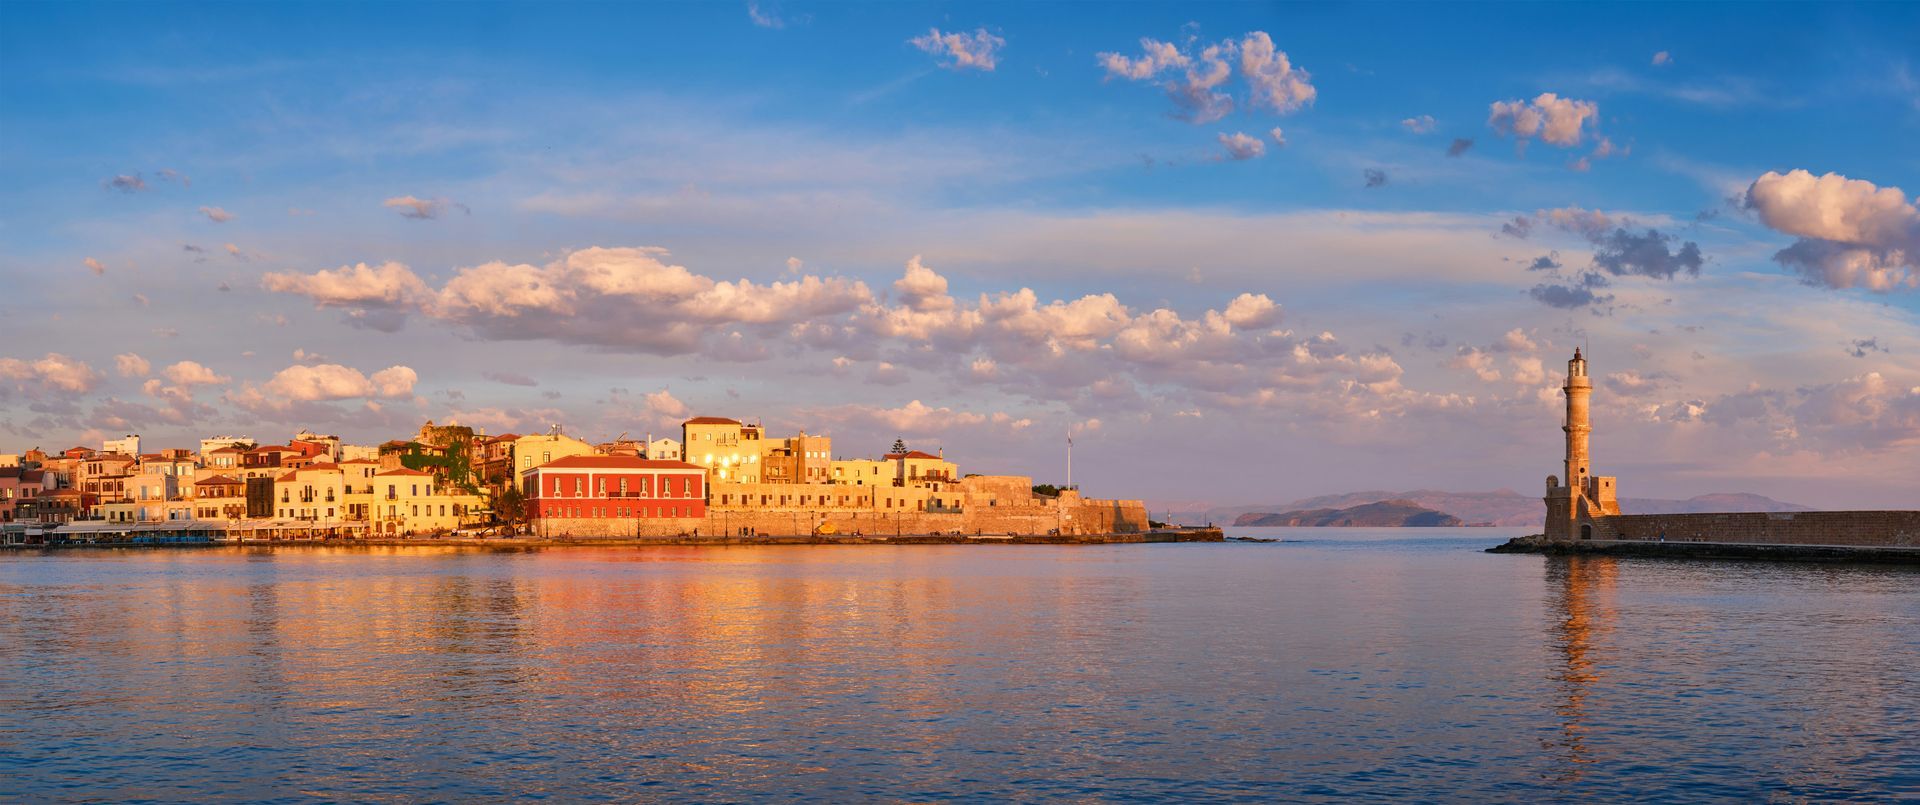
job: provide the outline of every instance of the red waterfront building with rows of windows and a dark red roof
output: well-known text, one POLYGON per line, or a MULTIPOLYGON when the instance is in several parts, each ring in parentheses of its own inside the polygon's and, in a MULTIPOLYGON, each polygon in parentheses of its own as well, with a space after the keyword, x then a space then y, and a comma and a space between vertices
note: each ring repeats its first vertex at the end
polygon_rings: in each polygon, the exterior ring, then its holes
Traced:
POLYGON ((634 455, 568 455, 520 473, 526 515, 541 519, 707 517, 707 471, 634 455))

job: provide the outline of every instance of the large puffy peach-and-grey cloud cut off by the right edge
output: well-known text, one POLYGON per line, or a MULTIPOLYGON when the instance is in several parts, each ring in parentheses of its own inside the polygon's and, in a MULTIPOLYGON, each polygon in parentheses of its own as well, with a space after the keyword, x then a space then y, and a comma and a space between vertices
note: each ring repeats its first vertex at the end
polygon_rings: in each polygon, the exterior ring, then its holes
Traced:
POLYGON ((1799 238, 1774 261, 1807 284, 1920 286, 1920 207, 1901 188, 1839 173, 1768 171, 1747 186, 1743 202, 1768 229, 1799 238))

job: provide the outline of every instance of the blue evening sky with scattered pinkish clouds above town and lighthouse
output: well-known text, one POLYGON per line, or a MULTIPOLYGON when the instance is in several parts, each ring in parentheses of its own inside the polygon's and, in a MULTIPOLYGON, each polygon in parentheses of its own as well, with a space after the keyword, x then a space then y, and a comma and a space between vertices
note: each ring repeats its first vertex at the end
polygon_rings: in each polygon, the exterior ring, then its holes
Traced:
POLYGON ((0 451, 1920 500, 1920 6, 0 6, 0 451))

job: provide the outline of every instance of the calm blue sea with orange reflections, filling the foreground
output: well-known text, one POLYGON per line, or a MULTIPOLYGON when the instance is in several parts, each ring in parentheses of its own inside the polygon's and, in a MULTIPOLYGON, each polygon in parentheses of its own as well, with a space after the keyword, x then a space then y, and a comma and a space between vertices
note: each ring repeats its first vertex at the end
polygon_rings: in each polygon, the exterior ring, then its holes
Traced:
POLYGON ((1920 795, 1920 571, 1240 532, 0 555, 0 799, 1920 795))

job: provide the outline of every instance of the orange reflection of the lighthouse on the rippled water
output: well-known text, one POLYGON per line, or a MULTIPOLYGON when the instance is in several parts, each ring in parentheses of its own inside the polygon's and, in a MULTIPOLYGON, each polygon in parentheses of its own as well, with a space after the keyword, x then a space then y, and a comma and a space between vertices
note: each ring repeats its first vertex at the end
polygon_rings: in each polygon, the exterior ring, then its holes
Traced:
POLYGON ((1548 607, 1553 617, 1551 644, 1559 653, 1553 669, 1559 736, 1548 742, 1561 763, 1553 778, 1574 782, 1584 774, 1588 747, 1588 697, 1601 682, 1603 642, 1613 630, 1611 592, 1619 567, 1611 557, 1549 557, 1546 561, 1548 607))

